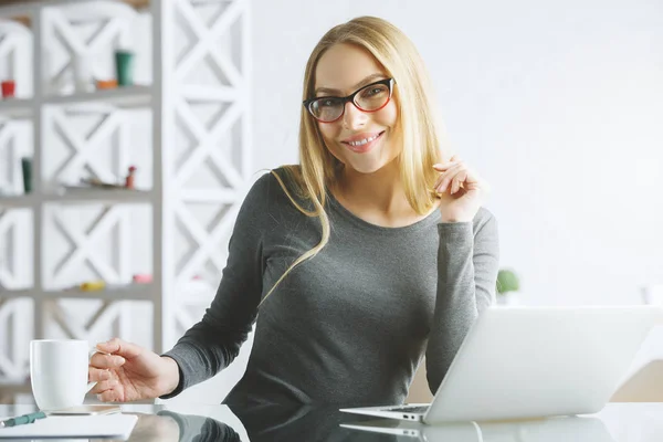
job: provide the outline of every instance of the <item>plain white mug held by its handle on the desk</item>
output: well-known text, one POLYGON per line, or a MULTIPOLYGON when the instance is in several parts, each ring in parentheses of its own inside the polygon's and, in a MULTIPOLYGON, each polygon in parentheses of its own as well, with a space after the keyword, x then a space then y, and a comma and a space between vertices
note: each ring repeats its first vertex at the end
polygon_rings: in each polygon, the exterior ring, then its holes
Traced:
POLYGON ((40 410, 61 410, 83 404, 85 393, 96 383, 87 382, 91 355, 86 340, 30 341, 30 381, 40 410))

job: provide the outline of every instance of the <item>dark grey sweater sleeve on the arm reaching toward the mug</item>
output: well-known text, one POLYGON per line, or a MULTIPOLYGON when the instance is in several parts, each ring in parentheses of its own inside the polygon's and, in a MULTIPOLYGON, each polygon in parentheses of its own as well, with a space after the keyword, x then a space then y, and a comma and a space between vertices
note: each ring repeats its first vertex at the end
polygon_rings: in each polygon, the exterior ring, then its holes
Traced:
POLYGON ((263 234, 270 177, 263 176, 246 196, 229 242, 221 283, 202 319, 166 356, 180 369, 177 389, 164 398, 202 382, 228 367, 238 356, 256 318, 263 288, 263 234))

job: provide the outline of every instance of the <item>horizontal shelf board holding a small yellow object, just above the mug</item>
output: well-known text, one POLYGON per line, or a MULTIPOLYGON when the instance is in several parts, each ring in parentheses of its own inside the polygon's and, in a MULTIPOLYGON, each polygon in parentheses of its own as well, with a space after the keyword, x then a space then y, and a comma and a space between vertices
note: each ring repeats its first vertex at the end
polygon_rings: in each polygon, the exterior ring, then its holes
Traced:
POLYGON ((129 284, 123 288, 94 292, 83 292, 80 290, 38 291, 34 288, 0 290, 0 298, 151 301, 152 287, 154 284, 129 284))

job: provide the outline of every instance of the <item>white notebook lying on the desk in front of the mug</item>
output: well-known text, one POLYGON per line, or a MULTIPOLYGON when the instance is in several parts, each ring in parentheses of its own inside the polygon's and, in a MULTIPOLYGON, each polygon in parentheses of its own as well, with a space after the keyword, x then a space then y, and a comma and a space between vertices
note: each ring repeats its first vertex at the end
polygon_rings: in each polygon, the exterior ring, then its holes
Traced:
POLYGON ((0 440, 113 438, 126 441, 137 420, 135 414, 50 415, 25 425, 0 428, 0 440))

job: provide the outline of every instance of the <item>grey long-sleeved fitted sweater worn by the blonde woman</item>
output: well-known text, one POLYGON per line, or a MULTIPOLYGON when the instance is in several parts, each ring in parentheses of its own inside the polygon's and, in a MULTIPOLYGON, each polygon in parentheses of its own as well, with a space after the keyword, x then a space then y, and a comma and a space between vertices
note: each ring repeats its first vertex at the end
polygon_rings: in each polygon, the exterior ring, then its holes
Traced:
POLYGON ((254 323, 246 372, 228 403, 402 403, 424 355, 429 387, 438 389, 470 326, 495 298, 495 218, 482 208, 473 222, 440 223, 436 210, 408 227, 382 228, 333 197, 327 213, 329 243, 291 272, 257 315, 262 297, 317 244, 322 228, 271 173, 255 182, 214 301, 166 354, 180 368, 168 397, 227 367, 254 323))

